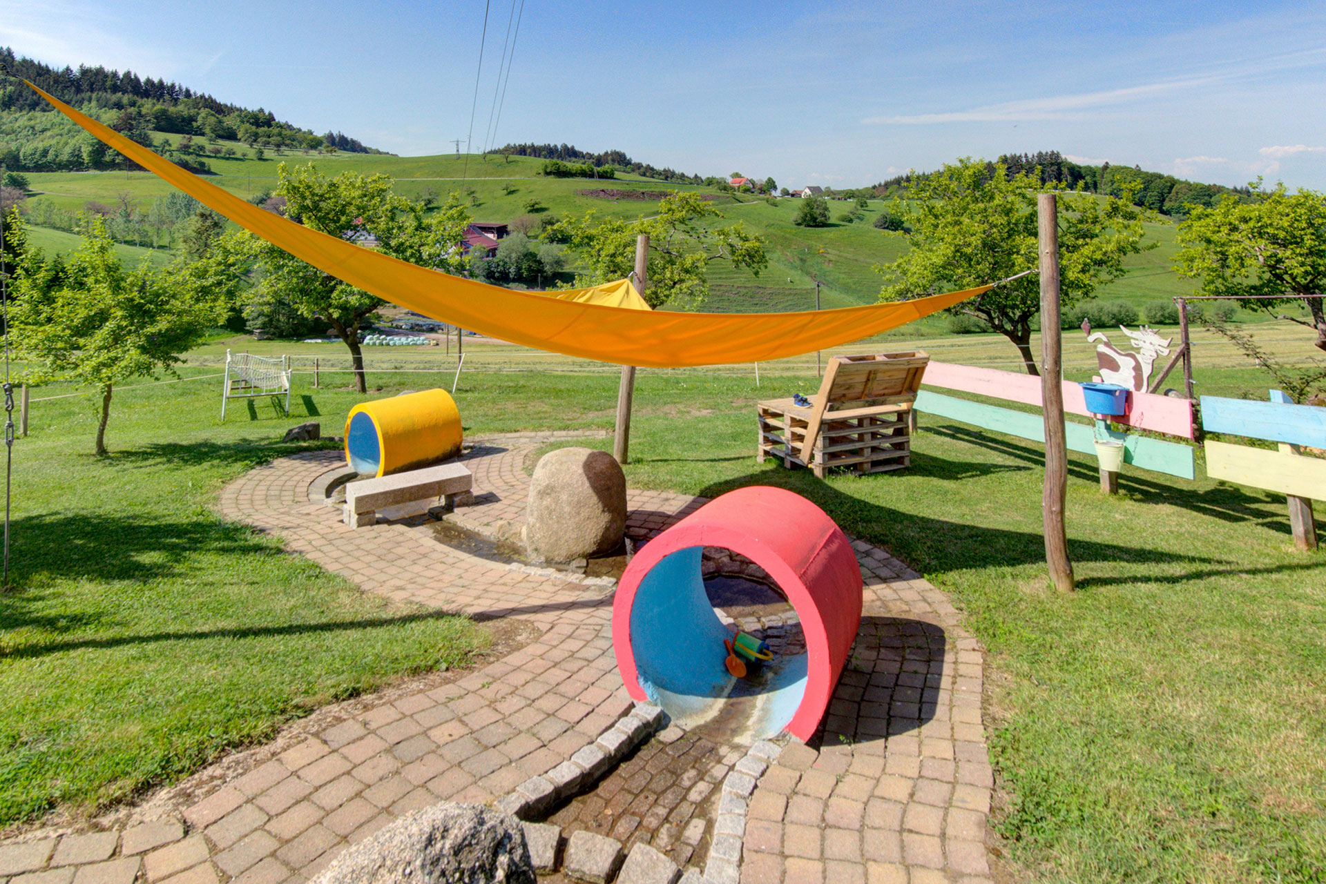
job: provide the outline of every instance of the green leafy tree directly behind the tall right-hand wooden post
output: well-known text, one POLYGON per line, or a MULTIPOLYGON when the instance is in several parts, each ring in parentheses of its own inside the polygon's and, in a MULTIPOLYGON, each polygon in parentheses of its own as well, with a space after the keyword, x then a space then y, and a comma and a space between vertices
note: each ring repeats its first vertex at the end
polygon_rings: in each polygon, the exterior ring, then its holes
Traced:
MULTIPOLYGON (((906 215, 911 249, 875 269, 892 280, 880 301, 907 301, 972 289, 1030 270, 1038 262, 1037 171, 1009 176, 1002 163, 960 159, 915 179, 906 215)), ((1142 250, 1142 213, 1131 195, 1095 197, 1063 192, 1059 205, 1059 298, 1065 306, 1091 297, 1123 276, 1123 258, 1142 250)), ((1154 248, 1151 244, 1146 248, 1154 248)), ((984 319, 1017 347, 1026 372, 1040 375, 1032 355, 1032 325, 1041 309, 1040 281, 1026 276, 964 301, 952 313, 984 319)))

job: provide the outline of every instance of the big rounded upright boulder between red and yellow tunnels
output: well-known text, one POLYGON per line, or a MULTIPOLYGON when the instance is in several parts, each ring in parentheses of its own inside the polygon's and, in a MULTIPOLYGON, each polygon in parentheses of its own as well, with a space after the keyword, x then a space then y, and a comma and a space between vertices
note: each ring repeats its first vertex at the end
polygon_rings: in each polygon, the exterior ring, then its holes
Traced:
POLYGON ((611 455, 558 448, 529 482, 525 546, 534 558, 572 562, 610 553, 626 534, 626 476, 611 455))

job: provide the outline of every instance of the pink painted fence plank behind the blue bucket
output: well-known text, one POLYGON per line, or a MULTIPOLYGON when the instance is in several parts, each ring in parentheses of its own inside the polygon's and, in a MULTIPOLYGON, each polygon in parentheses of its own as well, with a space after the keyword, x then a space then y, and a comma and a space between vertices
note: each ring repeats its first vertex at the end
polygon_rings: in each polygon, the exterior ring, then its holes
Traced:
MULTIPOLYGON (((975 366, 931 360, 926 366, 926 376, 922 379, 922 383, 931 387, 944 387, 945 390, 973 392, 993 399, 1021 402, 1028 406, 1041 404, 1041 379, 1016 371, 977 368, 975 366)), ((1086 410, 1082 387, 1075 382, 1063 382, 1063 410, 1074 415, 1091 415, 1086 410)), ((1132 394, 1131 411, 1122 417, 1111 417, 1111 420, 1136 429, 1150 429, 1158 433, 1192 439, 1192 403, 1187 399, 1160 396, 1151 392, 1135 392, 1132 394)))

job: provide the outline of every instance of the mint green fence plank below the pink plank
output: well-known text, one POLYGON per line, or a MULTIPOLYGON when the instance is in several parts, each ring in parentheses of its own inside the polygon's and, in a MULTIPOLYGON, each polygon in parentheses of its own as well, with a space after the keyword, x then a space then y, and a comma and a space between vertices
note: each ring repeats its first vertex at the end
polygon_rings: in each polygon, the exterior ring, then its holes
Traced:
MULTIPOLYGON (((943 394, 922 390, 916 394, 916 411, 928 415, 939 415, 960 420, 964 424, 975 424, 985 429, 1045 443, 1045 421, 1041 415, 1029 415, 1022 411, 1009 411, 997 406, 987 406, 980 402, 957 399, 943 394)), ((1083 455, 1094 455, 1095 432, 1085 424, 1066 424, 1067 447, 1070 451, 1083 455)), ((1123 441, 1123 463, 1138 469, 1148 469, 1155 473, 1177 476, 1179 478, 1195 478, 1196 467, 1193 449, 1188 445, 1132 436, 1115 431, 1106 431, 1113 439, 1123 441)))

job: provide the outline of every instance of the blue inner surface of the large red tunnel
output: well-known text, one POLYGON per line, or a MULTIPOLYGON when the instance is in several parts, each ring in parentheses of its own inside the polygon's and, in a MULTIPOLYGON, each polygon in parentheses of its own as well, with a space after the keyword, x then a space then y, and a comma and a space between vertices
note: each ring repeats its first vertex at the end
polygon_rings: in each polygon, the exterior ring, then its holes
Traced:
POLYGON ((699 722, 716 714, 733 694, 756 694, 752 721, 756 738, 782 730, 801 705, 806 655, 776 659, 760 679, 728 673, 725 639, 704 590, 703 546, 666 555, 640 580, 631 604, 631 653, 640 688, 674 720, 699 722))

